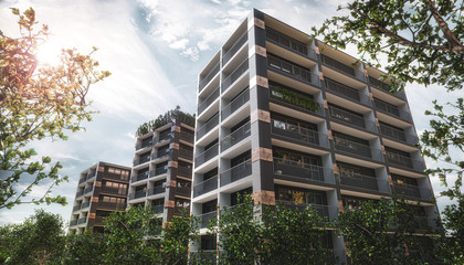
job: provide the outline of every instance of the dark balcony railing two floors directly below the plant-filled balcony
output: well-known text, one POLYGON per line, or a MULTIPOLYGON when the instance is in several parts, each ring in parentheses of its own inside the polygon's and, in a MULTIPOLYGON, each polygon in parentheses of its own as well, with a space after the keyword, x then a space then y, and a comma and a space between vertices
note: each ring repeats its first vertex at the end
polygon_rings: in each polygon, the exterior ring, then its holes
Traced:
POLYGON ((335 184, 333 169, 282 158, 274 158, 274 174, 335 184))

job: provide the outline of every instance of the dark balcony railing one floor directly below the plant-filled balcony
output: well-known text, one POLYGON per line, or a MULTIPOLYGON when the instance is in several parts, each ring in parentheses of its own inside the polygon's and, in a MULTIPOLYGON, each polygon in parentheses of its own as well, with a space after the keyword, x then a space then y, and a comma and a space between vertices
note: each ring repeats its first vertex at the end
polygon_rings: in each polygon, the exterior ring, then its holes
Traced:
POLYGON ((276 127, 276 120, 271 119, 271 130, 273 135, 282 136, 287 138, 288 140, 297 140, 304 144, 320 146, 320 147, 329 147, 328 136, 326 134, 320 134, 316 130, 309 130, 302 127, 294 127, 291 129, 289 127, 285 126, 285 128, 276 127))

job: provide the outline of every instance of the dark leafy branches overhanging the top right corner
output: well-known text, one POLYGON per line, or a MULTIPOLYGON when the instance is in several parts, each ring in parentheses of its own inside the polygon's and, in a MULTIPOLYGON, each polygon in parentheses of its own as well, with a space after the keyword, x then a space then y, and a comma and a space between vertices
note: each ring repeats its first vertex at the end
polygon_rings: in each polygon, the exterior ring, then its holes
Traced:
MULTIPOLYGON (((316 35, 336 47, 357 46, 362 60, 399 82, 437 84, 449 91, 464 84, 464 6, 456 0, 355 0, 339 10, 349 14, 326 20, 316 35)), ((386 76, 384 76, 386 78, 386 76)), ((393 83, 393 82, 392 82, 393 83)))

